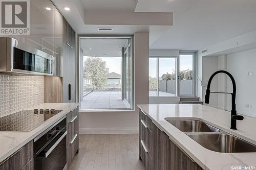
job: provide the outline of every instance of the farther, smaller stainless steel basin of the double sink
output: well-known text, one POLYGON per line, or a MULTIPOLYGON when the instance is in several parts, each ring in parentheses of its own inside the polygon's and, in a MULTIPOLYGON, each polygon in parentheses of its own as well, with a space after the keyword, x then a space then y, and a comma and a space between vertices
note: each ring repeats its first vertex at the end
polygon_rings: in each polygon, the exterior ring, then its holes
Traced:
POLYGON ((166 120, 182 132, 220 132, 219 129, 200 120, 166 120))

